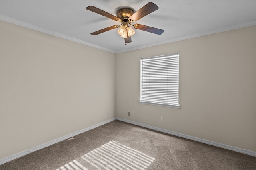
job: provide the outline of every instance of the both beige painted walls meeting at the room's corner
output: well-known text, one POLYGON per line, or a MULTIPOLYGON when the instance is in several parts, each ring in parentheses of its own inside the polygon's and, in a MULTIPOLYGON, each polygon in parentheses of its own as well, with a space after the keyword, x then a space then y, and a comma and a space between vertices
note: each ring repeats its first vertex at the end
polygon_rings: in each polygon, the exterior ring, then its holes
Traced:
POLYGON ((114 117, 256 151, 256 26, 116 55, 4 21, 0 35, 0 159, 114 117), (140 57, 178 51, 181 109, 139 104, 140 57))

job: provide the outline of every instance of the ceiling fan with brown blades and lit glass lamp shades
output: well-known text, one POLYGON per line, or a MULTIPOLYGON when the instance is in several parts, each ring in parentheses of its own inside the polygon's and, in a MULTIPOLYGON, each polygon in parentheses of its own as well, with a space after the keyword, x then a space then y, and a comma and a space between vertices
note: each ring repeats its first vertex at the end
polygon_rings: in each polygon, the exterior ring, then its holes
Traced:
POLYGON ((110 31, 119 27, 117 32, 122 38, 124 38, 125 45, 126 43, 132 42, 132 35, 135 34, 135 31, 132 29, 132 27, 158 35, 161 35, 164 32, 164 30, 162 29, 149 27, 146 25, 141 25, 137 23, 134 25, 131 24, 139 20, 140 18, 154 12, 155 10, 158 10, 158 6, 152 2, 148 2, 148 4, 146 4, 136 12, 130 7, 121 8, 116 12, 116 16, 109 14, 108 12, 105 12, 99 8, 96 8, 95 6, 88 6, 86 7, 86 9, 121 23, 120 25, 113 25, 111 27, 95 31, 91 33, 92 35, 98 35, 100 33, 104 33, 106 31, 110 31))

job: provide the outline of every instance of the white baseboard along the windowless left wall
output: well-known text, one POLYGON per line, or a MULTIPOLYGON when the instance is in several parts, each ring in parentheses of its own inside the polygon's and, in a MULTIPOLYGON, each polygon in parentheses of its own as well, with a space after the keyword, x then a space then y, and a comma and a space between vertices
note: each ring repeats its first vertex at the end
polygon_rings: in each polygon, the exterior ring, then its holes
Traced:
POLYGON ((48 147, 48 146, 53 145, 53 144, 55 144, 55 143, 58 143, 58 142, 60 142, 60 141, 64 141, 64 140, 66 140, 66 139, 68 139, 68 138, 70 138, 70 137, 74 137, 74 136, 76 136, 76 135, 79 135, 80 133, 84 133, 84 132, 86 132, 86 131, 89 131, 89 130, 91 130, 91 129, 94 129, 94 128, 96 128, 96 127, 99 127, 99 126, 101 126, 101 125, 104 125, 104 124, 109 123, 109 122, 114 121, 114 120, 116 120, 116 118, 109 119, 109 120, 104 121, 104 122, 102 122, 102 123, 98 123, 97 125, 93 125, 93 126, 91 126, 91 127, 87 127, 87 128, 82 129, 82 130, 80 130, 80 131, 76 131, 76 132, 71 133, 71 134, 69 134, 69 135, 66 135, 66 136, 64 136, 64 137, 60 137, 60 138, 58 138, 58 139, 54 139, 53 141, 44 143, 44 144, 39 145, 39 146, 37 146, 37 147, 34 147, 34 148, 32 148, 32 149, 24 150, 24 151, 22 151, 22 152, 20 152, 20 153, 14 154, 14 155, 12 155, 12 156, 8 156, 8 157, 3 158, 3 159, 0 160, 0 165, 1 165, 1 164, 4 164, 4 163, 6 163, 6 162, 9 162, 9 161, 11 161, 11 160, 20 158, 21 156, 24 156, 24 155, 26 155, 26 154, 32 153, 32 152, 34 152, 34 151, 36 151, 36 150, 43 149, 43 148, 45 148, 45 147, 48 147))

